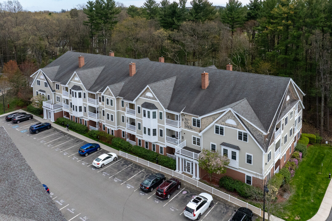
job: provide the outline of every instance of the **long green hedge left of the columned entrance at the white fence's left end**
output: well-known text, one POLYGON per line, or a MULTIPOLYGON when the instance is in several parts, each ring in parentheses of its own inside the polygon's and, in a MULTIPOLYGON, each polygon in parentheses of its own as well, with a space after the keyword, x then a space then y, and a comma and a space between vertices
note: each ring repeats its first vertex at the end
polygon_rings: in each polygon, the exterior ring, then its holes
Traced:
POLYGON ((121 139, 121 138, 113 138, 112 139, 113 146, 119 148, 120 150, 132 153, 140 158, 148 160, 150 162, 156 162, 158 158, 158 164, 170 168, 172 170, 176 169, 176 160, 172 159, 168 156, 160 155, 151 150, 145 149, 141 146, 131 145, 129 142, 121 139))

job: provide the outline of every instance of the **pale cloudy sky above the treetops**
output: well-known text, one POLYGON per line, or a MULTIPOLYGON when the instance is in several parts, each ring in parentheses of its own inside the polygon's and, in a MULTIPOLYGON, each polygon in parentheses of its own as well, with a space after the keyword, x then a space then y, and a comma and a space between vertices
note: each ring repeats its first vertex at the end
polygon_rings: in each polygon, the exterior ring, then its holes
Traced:
MULTIPOLYGON (((70 10, 72 8, 75 8, 77 5, 86 5, 87 0, 18 0, 21 5, 23 6, 23 9, 28 11, 56 11, 59 12, 61 9, 70 10), (47 2, 47 3, 46 3, 47 2)), ((129 5, 135 5, 137 7, 140 7, 143 5, 145 0, 139 0, 139 1, 132 1, 132 0, 115 0, 116 2, 122 2, 125 6, 129 5)), ((242 2, 242 5, 246 5, 249 3, 249 0, 240 0, 242 2)), ((159 3, 159 0, 156 0, 156 2, 159 3)), ((173 2, 173 0, 170 0, 170 2, 173 2)), ((177 0, 177 2, 179 2, 177 0)), ((220 5, 220 6, 226 6, 226 2, 228 0, 213 0, 209 1, 212 2, 212 5, 220 5)), ((187 7, 190 7, 190 0, 187 0, 187 7)))

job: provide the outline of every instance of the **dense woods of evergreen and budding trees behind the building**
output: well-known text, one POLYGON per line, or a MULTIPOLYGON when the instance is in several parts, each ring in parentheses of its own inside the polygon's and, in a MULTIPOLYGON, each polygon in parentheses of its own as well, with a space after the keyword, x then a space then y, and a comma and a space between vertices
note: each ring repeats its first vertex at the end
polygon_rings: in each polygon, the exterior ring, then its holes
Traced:
POLYGON ((146 0, 125 7, 88 1, 70 11, 29 12, 0 4, 0 66, 44 67, 68 50, 292 78, 306 93, 304 119, 329 131, 332 0, 146 0))

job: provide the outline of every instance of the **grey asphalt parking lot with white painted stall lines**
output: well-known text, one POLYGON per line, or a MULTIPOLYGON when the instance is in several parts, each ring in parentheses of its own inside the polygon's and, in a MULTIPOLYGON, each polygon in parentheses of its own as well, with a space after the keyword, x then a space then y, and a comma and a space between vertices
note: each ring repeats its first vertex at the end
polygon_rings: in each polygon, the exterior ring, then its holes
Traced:
MULTIPOLYGON (((50 196, 68 221, 146 221, 158 217, 188 220, 183 209, 199 192, 182 185, 170 199, 159 199, 155 191, 146 193, 139 188, 140 183, 154 172, 121 157, 103 168, 95 168, 92 161, 110 151, 100 149, 82 156, 78 149, 86 141, 54 127, 38 134, 30 133, 29 127, 38 122, 32 119, 14 124, 2 117, 0 126, 5 127, 37 177, 49 187, 50 196), (94 183, 96 185, 91 185, 94 183)), ((216 196, 213 196, 213 202, 201 220, 228 221, 238 208, 218 201, 216 196)))

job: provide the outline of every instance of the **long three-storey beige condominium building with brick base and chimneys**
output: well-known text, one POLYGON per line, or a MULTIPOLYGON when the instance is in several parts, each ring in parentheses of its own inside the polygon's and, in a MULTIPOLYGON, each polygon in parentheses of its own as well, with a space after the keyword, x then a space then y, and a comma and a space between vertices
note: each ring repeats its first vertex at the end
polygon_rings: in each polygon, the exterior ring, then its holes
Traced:
POLYGON ((176 159, 200 179, 203 148, 230 159, 248 185, 286 164, 301 134, 305 95, 290 78, 148 59, 66 52, 32 75, 44 119, 65 117, 176 159))

